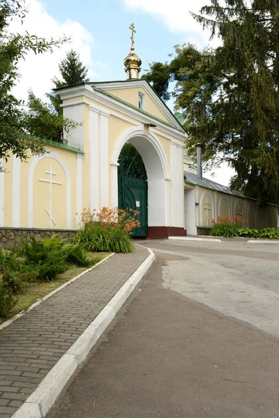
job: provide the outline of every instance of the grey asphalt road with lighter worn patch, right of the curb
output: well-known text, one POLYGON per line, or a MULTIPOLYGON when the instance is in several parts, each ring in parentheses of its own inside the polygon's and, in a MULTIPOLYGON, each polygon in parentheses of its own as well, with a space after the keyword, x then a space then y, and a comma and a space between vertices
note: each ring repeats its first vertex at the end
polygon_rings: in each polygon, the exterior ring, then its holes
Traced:
POLYGON ((279 245, 146 242, 156 262, 55 418, 278 418, 279 245))

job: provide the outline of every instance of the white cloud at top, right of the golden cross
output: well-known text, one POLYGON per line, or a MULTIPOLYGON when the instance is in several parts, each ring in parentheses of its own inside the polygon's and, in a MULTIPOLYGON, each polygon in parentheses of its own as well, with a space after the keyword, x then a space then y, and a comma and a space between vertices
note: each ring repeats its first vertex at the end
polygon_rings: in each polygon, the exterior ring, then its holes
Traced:
POLYGON ((163 21, 169 31, 173 33, 185 33, 185 41, 193 42, 199 47, 205 45, 216 46, 218 38, 209 42, 210 33, 203 31, 202 25, 197 23, 189 12, 199 14, 199 10, 209 0, 123 0, 128 10, 148 13, 163 21))

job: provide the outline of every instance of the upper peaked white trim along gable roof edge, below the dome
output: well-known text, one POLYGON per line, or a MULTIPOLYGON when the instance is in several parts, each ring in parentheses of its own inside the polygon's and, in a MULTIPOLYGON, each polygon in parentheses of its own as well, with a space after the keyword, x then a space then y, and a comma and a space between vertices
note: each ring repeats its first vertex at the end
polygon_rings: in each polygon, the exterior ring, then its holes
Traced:
MULTIPOLYGON (((88 85, 88 84, 87 84, 88 85)), ((114 82, 114 83, 102 83, 102 84, 96 84, 92 83, 92 86, 95 86, 96 88, 101 88, 105 91, 110 90, 122 90, 127 88, 143 88, 147 95, 153 100, 153 102, 156 104, 158 109, 162 112, 162 114, 167 118, 167 120, 170 123, 173 123, 176 125, 176 127, 179 127, 181 129, 181 125, 177 121, 174 114, 172 114, 172 111, 165 105, 163 100, 161 100, 158 95, 153 91, 153 88, 150 86, 149 82, 146 82, 145 79, 138 80, 137 82, 114 82)), ((143 108, 144 109, 144 108, 143 108)))

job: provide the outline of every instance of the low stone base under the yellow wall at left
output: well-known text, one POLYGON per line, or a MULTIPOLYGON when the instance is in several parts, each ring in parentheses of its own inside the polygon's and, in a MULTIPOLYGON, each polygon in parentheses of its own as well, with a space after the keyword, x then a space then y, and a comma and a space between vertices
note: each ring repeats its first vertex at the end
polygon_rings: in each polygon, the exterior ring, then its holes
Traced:
POLYGON ((59 238, 73 238, 77 233, 73 229, 34 229, 34 228, 1 228, 0 227, 0 246, 3 248, 15 247, 20 241, 30 241, 31 237, 37 240, 51 238, 57 235, 59 238))

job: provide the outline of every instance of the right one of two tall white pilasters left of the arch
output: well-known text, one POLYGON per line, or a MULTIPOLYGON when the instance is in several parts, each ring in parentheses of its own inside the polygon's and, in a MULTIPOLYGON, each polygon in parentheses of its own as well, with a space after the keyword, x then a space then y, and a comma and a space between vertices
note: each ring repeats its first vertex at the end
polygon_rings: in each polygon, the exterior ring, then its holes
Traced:
POLYGON ((109 117, 100 111, 100 207, 109 206, 109 117))

